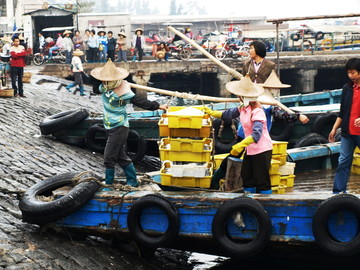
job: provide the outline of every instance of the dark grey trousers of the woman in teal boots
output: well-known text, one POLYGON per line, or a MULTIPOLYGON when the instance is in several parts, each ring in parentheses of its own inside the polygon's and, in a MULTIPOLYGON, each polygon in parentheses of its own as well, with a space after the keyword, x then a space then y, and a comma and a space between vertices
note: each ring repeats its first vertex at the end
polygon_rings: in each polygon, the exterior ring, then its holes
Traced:
POLYGON ((119 164, 121 168, 125 168, 131 159, 126 154, 126 141, 129 134, 129 128, 121 126, 106 130, 107 140, 104 152, 105 168, 115 168, 115 164, 119 164))

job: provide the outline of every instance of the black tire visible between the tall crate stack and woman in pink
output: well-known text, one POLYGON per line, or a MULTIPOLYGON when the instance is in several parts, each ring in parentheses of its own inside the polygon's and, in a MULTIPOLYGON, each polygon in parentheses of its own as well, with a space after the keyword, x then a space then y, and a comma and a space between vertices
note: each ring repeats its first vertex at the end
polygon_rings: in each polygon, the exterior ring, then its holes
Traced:
MULTIPOLYGON (((216 154, 223 154, 223 153, 229 153, 231 151, 231 148, 234 144, 237 143, 237 139, 234 137, 234 139, 232 141, 224 141, 221 138, 219 138, 219 130, 220 130, 220 126, 221 123, 223 121, 221 119, 215 119, 213 121, 213 128, 214 128, 214 141, 215 141, 215 153, 216 154)), ((223 134, 224 132, 231 132, 232 133, 232 122, 229 121, 224 121, 224 129, 223 129, 223 134)), ((238 125, 239 125, 239 121, 237 119, 234 119, 234 125, 235 128, 237 130, 238 125)))

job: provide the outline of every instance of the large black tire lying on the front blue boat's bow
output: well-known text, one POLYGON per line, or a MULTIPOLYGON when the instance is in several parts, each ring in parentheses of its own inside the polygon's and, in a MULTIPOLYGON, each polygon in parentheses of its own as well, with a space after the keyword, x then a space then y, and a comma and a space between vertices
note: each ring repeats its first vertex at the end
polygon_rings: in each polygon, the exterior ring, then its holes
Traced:
POLYGON ((73 178, 78 173, 65 173, 40 181, 30 187, 20 200, 23 221, 45 224, 66 217, 80 209, 99 189, 96 181, 82 182, 75 185, 69 193, 50 202, 40 201, 37 196, 49 195, 60 187, 73 185, 73 178))

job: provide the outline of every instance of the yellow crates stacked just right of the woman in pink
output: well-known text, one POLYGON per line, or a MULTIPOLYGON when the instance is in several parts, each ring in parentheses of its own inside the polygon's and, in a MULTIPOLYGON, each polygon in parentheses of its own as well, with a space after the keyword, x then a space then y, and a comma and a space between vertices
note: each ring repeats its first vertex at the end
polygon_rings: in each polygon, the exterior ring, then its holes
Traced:
POLYGON ((270 179, 273 193, 284 194, 294 186, 295 163, 286 162, 287 142, 273 141, 270 179))

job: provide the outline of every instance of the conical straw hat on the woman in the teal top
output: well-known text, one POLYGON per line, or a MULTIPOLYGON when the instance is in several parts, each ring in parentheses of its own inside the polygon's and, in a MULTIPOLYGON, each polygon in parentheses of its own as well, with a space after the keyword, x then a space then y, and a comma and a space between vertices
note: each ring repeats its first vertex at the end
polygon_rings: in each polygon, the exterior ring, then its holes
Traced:
POLYGON ((126 69, 116 67, 111 59, 103 67, 93 69, 90 74, 95 79, 103 82, 122 80, 129 76, 126 69))

